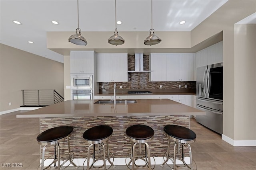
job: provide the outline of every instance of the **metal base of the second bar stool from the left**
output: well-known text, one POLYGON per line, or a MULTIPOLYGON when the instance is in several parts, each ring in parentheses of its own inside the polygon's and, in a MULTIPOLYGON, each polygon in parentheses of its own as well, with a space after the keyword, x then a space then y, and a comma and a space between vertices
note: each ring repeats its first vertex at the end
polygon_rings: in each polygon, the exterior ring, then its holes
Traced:
MULTIPOLYGON (((108 139, 108 138, 107 138, 108 139)), ((84 163, 86 162, 87 160, 87 165, 86 165, 86 170, 98 170, 98 169, 103 169, 103 170, 108 170, 109 168, 111 168, 112 166, 115 168, 116 166, 113 164, 114 163, 114 156, 111 152, 109 152, 109 148, 108 148, 108 140, 104 140, 106 141, 106 144, 107 144, 107 157, 105 156, 105 146, 104 146, 104 143, 102 141, 102 143, 98 143, 96 141, 94 142, 91 142, 91 141, 87 141, 90 144, 90 146, 88 147, 88 155, 87 155, 87 158, 84 160, 84 163), (98 144, 98 156, 100 154, 103 154, 103 155, 100 155, 100 156, 103 156, 103 158, 101 157, 98 157, 96 158, 95 156, 95 145, 98 144), (90 164, 90 150, 91 148, 93 147, 93 156, 92 156, 92 164, 90 164), (100 147, 102 148, 102 152, 100 152, 100 147), (111 161, 110 159, 113 158, 113 160, 111 161), (103 164, 100 165, 100 166, 97 166, 95 165, 96 162, 102 160, 103 161, 103 164), (108 161, 110 163, 110 166, 107 168, 106 167, 106 161, 108 161)), ((83 163, 83 170, 84 169, 84 163, 83 163)))

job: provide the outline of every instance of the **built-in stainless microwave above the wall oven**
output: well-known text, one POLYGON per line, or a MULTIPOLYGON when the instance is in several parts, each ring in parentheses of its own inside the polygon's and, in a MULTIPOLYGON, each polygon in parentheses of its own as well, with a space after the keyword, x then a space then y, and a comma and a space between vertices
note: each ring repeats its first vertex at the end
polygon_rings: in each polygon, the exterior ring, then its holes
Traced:
POLYGON ((72 89, 92 89, 92 75, 72 75, 71 86, 72 89))

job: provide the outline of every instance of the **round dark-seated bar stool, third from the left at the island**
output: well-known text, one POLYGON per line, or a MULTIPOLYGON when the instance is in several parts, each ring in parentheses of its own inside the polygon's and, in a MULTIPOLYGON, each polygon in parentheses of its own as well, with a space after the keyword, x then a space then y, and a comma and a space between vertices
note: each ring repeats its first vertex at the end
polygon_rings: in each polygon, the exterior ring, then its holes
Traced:
MULTIPOLYGON (((129 168, 132 163, 132 169, 136 170, 138 168, 142 169, 154 169, 156 165, 156 161, 154 160, 154 167, 151 167, 151 159, 150 159, 150 149, 147 142, 151 141, 154 138, 154 130, 147 125, 132 125, 126 129, 126 135, 130 141, 132 141, 132 149, 131 153, 126 156, 126 159, 130 157, 130 161, 126 162, 126 167, 129 168), (135 158, 135 147, 139 144, 139 155, 135 158), (141 144, 145 144, 145 157, 141 154, 141 144), (144 166, 136 165, 136 160, 143 160, 145 162, 144 166), (135 167, 136 166, 136 167, 135 167)), ((154 157, 153 157, 154 158, 154 157)))

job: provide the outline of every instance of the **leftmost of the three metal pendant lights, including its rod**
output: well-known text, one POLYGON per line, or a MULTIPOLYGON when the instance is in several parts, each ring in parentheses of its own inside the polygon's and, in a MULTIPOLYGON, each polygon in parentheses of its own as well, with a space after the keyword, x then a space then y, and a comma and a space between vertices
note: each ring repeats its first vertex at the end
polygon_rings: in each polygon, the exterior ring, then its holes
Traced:
POLYGON ((86 39, 81 35, 81 29, 79 28, 79 9, 78 9, 78 0, 77 0, 77 18, 78 18, 78 28, 76 29, 76 34, 71 35, 68 38, 68 42, 71 42, 76 45, 87 45, 86 39))

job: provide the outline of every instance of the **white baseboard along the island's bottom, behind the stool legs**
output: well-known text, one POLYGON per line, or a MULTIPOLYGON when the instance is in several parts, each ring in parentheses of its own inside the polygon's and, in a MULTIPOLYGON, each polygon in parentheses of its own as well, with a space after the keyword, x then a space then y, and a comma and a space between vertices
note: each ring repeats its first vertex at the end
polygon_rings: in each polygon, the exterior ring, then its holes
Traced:
MULTIPOLYGON (((154 157, 155 161, 156 161, 156 165, 160 165, 164 162, 164 158, 163 157, 154 157)), ((151 158, 151 162, 154 163, 154 159, 151 158)), ((86 162, 84 163, 84 160, 85 158, 75 158, 73 160, 73 162, 77 165, 77 166, 82 166, 83 164, 86 164, 86 162)), ((112 161, 112 158, 110 159, 112 161)), ((129 159, 130 160, 130 159, 129 159)), ((129 161, 128 160, 128 161, 129 161)), ((190 164, 190 158, 189 157, 185 157, 184 158, 185 162, 187 164, 190 164)), ((40 160, 41 162, 42 160, 40 160)), ((44 161, 44 166, 48 166, 51 162, 53 161, 53 159, 47 159, 44 161)), ((92 159, 90 159, 90 164, 92 163, 92 159)), ((127 162, 128 163, 128 162, 127 162)), ((67 161, 64 166, 68 166, 69 164, 69 161, 67 161)), ((95 163, 95 166, 99 166, 103 164, 102 161, 97 161, 95 163)), ((114 158, 114 165, 126 165, 126 162, 125 162, 125 158, 114 158)), ((144 161, 143 160, 136 160, 136 164, 137 165, 144 165, 144 161)), ((167 164, 173 164, 172 161, 168 160, 167 164)), ((180 160, 176 160, 176 164, 182 164, 182 161, 180 160)), ((73 166, 72 164, 70 164, 70 166, 73 166)), ((106 162, 106 166, 110 166, 110 163, 107 161, 106 162)))

